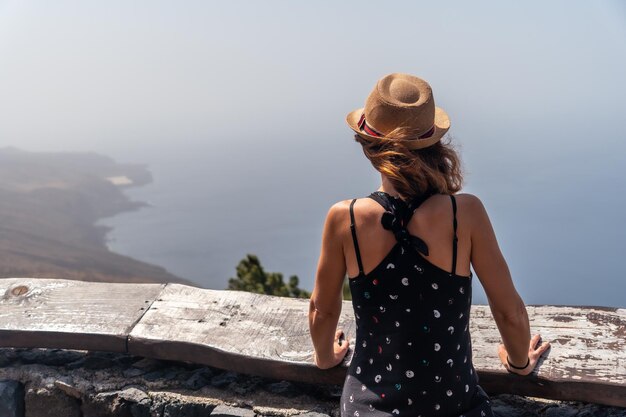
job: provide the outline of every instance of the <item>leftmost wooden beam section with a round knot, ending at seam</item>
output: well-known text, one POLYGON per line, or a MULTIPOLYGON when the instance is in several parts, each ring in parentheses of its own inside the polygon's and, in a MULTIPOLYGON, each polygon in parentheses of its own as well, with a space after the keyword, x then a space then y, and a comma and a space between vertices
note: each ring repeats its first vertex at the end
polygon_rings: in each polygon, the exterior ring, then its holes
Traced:
POLYGON ((0 346, 126 352, 165 284, 0 279, 0 346))

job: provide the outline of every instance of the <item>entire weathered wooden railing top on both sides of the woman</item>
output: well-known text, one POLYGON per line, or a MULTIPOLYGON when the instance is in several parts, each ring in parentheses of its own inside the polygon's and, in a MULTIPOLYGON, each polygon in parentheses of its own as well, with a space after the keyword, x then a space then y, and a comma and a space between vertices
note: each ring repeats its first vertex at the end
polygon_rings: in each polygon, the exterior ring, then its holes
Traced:
MULTIPOLYGON (((352 305, 339 327, 354 343, 352 305)), ((626 309, 528 306, 552 344, 528 377, 507 373, 489 308, 472 306, 474 367, 489 393, 626 407, 626 309)), ((0 346, 127 352, 266 377, 342 384, 312 362, 308 300, 180 284, 0 279, 0 346)), ((346 358, 349 361, 350 353, 346 358)))

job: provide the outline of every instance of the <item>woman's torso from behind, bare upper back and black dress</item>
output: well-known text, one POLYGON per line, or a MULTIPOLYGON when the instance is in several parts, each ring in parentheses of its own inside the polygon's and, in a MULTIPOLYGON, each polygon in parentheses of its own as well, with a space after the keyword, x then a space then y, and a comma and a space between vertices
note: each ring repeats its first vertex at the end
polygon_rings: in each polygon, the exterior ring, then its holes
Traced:
POLYGON ((471 275, 458 274, 454 256, 456 199, 432 196, 413 211, 386 193, 371 197, 376 201, 358 200, 360 210, 356 201, 349 208, 353 252, 345 255, 356 264, 349 276, 357 338, 342 414, 456 416, 483 406, 487 412, 471 361, 471 275), (408 211, 414 214, 404 227, 408 211), (382 226, 385 212, 395 214, 386 214, 390 230, 382 226), (428 240, 420 242, 420 231, 428 240))

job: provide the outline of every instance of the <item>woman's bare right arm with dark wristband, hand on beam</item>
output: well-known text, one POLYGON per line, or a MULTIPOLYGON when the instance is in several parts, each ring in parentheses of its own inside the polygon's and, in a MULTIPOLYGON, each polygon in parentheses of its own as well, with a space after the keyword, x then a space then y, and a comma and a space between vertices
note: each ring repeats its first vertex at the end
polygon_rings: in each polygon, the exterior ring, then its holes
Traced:
POLYGON ((477 197, 467 195, 466 200, 473 219, 471 262, 485 289, 489 307, 502 336, 504 346, 499 350, 500 359, 509 371, 527 375, 550 344, 537 346, 539 335, 531 340, 526 306, 513 285, 489 216, 477 197), (510 364, 523 369, 510 367, 507 357, 510 364))

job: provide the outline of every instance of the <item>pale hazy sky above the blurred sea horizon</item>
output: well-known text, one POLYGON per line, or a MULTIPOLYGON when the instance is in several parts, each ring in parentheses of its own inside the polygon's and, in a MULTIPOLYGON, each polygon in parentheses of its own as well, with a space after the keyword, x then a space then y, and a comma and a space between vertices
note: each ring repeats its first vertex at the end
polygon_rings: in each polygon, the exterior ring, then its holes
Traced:
POLYGON ((545 129, 573 113, 602 126, 624 114, 625 41, 621 0, 0 0, 0 144, 334 134, 398 71, 426 78, 454 132, 481 149, 491 129, 550 147, 545 129))

